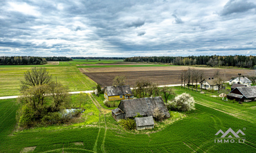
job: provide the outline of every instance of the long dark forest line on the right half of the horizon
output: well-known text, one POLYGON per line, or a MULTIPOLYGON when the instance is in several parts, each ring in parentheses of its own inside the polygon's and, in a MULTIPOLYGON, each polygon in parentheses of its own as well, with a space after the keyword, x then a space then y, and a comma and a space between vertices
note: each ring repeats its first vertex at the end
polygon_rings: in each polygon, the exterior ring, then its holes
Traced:
POLYGON ((187 57, 131 57, 125 62, 148 62, 148 63, 169 63, 174 65, 207 65, 236 66, 243 68, 253 68, 256 65, 256 56, 229 55, 229 56, 187 56, 187 57))

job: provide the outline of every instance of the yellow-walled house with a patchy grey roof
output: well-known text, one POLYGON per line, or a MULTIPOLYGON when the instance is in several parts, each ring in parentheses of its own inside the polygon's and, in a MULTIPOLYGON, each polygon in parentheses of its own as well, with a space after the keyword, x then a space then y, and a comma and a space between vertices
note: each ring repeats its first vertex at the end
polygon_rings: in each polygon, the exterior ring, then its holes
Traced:
POLYGON ((130 86, 108 86, 104 89, 104 98, 109 101, 133 99, 130 86))

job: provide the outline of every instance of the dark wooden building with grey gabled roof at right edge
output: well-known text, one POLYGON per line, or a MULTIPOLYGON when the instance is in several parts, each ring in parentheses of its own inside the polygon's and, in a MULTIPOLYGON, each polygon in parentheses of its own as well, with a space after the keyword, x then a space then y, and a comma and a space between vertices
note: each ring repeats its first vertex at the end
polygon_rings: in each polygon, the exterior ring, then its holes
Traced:
POLYGON ((229 99, 236 99, 237 101, 255 101, 256 100, 256 86, 237 87, 230 91, 227 95, 229 99))

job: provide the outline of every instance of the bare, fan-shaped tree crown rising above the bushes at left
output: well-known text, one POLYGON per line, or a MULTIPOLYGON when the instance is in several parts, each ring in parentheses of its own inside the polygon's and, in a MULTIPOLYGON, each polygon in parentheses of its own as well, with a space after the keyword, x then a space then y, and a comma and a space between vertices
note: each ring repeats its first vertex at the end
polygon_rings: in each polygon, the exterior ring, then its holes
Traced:
POLYGON ((45 67, 33 67, 24 73, 25 81, 21 81, 21 89, 25 90, 32 86, 49 84, 51 82, 52 75, 49 74, 45 67))

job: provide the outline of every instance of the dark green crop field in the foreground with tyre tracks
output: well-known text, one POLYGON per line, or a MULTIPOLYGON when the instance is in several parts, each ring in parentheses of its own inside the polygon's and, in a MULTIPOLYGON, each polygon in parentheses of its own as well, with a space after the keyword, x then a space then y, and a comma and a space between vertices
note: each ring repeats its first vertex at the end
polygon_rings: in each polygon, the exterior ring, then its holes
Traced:
MULTIPOLYGON (((177 89, 177 93, 182 90, 177 89)), ((194 96, 197 100, 197 95, 194 96)), ((199 97, 200 98, 200 97, 199 97)), ((205 103, 216 99, 206 98, 205 103)), ((218 101, 217 101, 218 102, 218 101)), ((97 103, 94 100, 94 103, 97 103)), ((87 126, 55 126, 13 131, 15 99, 0 100, 1 127, 9 127, 0 136, 0 152, 255 152, 255 122, 196 104, 196 110, 185 113, 158 132, 145 134, 120 129, 111 113, 99 109, 98 123, 87 126), (9 111, 13 110, 13 111, 9 111), (8 118, 12 118, 11 120, 8 118), (231 127, 246 134, 245 143, 215 143, 215 134, 231 127), (245 128, 245 130, 244 130, 245 128), (22 140, 22 141, 21 141, 22 140), (123 145, 125 144, 125 145, 123 145)), ((253 114, 255 117, 255 114, 253 114)))

